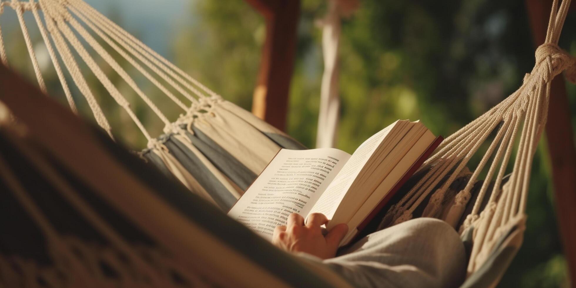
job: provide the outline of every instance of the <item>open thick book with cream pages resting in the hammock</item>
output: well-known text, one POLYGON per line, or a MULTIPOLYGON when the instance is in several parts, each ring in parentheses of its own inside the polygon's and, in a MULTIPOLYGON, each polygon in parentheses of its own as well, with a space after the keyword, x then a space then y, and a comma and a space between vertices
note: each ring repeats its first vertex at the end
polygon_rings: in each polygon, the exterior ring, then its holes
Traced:
POLYGON ((420 122, 397 120, 350 155, 332 148, 282 149, 228 215, 271 240, 291 213, 348 224, 346 245, 442 141, 420 122))

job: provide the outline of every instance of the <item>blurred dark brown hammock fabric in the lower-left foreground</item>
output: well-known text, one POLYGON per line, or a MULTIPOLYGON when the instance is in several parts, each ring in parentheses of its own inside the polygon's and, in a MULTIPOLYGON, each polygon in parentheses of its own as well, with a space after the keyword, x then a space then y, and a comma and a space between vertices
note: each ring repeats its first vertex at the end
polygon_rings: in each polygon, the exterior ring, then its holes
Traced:
POLYGON ((18 119, 0 126, 0 286, 350 287, 158 175, 3 66, 0 92, 18 119))

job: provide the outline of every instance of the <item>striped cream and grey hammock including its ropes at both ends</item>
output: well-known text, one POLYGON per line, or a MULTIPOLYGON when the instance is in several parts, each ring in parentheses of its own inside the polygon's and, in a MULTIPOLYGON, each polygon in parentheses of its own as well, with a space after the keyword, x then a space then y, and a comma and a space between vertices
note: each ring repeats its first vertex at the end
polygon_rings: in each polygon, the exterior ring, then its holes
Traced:
MULTIPOLYGON (((446 138, 419 170, 418 177, 412 179, 414 185, 387 210, 382 221, 382 225, 387 226, 421 215, 444 219, 459 229, 463 240, 472 244, 468 277, 463 287, 494 286, 520 248, 531 163, 547 118, 550 82, 564 70, 570 81, 576 79, 575 60, 557 46, 569 4, 570 1, 565 0, 558 7, 558 1, 554 1, 546 41, 536 50, 536 65, 526 74, 522 86, 446 138), (491 134, 495 135, 494 139, 490 138, 491 134), (487 153, 480 164, 468 172, 469 159, 484 142, 490 145, 487 153), (513 169, 505 178, 515 144, 518 150, 513 169), (480 173, 486 169, 484 181, 478 182, 480 173), (463 177, 464 188, 450 193, 455 180, 463 177), (468 203, 471 198, 475 201, 468 203), (422 212, 416 213, 419 209, 422 212), (465 211, 469 213, 464 214, 465 211)), ((223 100, 80 0, 12 1, 1 2, 0 7, 16 10, 40 89, 46 91, 22 20, 24 11, 31 11, 35 16, 73 111, 74 101, 66 88, 66 78, 55 51, 90 103, 97 123, 112 135, 71 55, 70 46, 149 139, 149 148, 143 151, 143 157, 165 172, 165 176, 154 175, 147 165, 109 139, 85 127, 47 98, 32 96, 35 91, 4 73, 6 75, 0 77, 0 89, 3 89, 0 100, 24 124, 25 132, 12 127, 14 125, 2 129, 0 184, 1 191, 6 191, 2 197, 12 199, 12 204, 6 202, 5 205, 12 209, 1 210, 7 214, 0 218, 22 221, 21 225, 6 223, 3 227, 28 236, 36 235, 39 242, 31 244, 37 251, 25 252, 28 244, 14 241, 20 238, 3 237, 2 247, 7 248, 0 252, 4 255, 0 258, 0 275, 12 275, 9 271, 16 270, 21 273, 7 279, 35 281, 40 277, 49 282, 58 280, 54 279, 58 278, 55 274, 62 272, 77 281, 120 278, 127 281, 122 283, 149 283, 150 286, 204 282, 254 286, 255 279, 262 279, 260 286, 347 285, 322 267, 310 266, 302 262, 304 260, 276 251, 207 204, 215 203, 225 210, 275 151, 280 147, 304 149, 302 145, 223 100), (43 12, 47 29, 38 10, 43 12), (190 107, 179 104, 184 109, 183 115, 175 123, 168 122, 78 21, 166 96, 182 104, 155 77, 179 91, 179 96, 190 101, 190 107), (83 37, 150 105, 166 124, 164 135, 150 137, 76 35, 83 37), (51 47, 48 36, 56 50, 51 47), (15 83, 26 93, 18 93, 16 97, 13 91, 7 90, 15 83), (165 177, 180 180, 194 194, 165 177), (50 191, 40 191, 39 187, 50 187, 50 191), (60 206, 66 209, 58 209, 60 206), (74 217, 63 221, 62 215, 74 217), (264 257, 267 255, 271 255, 270 259, 264 257), (48 272, 41 268, 46 266, 50 268, 48 272)), ((1 34, 0 56, 7 64, 1 34)))

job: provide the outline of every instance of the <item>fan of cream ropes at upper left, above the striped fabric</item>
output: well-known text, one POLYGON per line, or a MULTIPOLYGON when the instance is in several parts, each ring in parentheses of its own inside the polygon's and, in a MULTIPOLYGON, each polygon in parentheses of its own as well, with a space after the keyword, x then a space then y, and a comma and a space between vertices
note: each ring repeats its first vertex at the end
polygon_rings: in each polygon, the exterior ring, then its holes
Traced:
MULTIPOLYGON (((175 65, 170 63, 162 56, 145 46, 141 41, 137 40, 134 36, 124 31, 118 25, 105 18, 102 14, 98 13, 84 1, 76 0, 29 0, 28 2, 20 0, 11 0, 0 2, 0 15, 4 12, 5 7, 12 8, 20 22, 22 34, 26 42, 26 48, 30 56, 33 69, 36 74, 37 81, 43 92, 46 92, 46 84, 44 84, 43 75, 40 66, 37 62, 35 51, 33 50, 32 40, 28 33, 28 28, 24 21, 24 13, 31 11, 36 25, 39 28, 40 35, 46 45, 48 54, 52 65, 56 70, 60 85, 65 93, 66 100, 68 101, 71 109, 77 112, 76 104, 72 93, 70 92, 69 85, 66 81, 65 73, 60 67, 58 55, 60 60, 64 63, 68 73, 73 79, 74 84, 78 87, 81 94, 86 98, 90 109, 94 115, 94 119, 108 134, 112 137, 111 127, 107 118, 102 112, 100 105, 98 105, 96 98, 88 87, 88 83, 81 70, 78 67, 77 60, 73 55, 70 48, 73 48, 77 55, 86 63, 90 71, 96 76, 98 81, 103 84, 104 88, 108 91, 110 96, 126 111, 130 119, 137 125, 142 134, 148 139, 149 145, 153 146, 153 138, 147 132, 144 125, 138 119, 137 115, 130 108, 126 97, 120 93, 119 89, 110 81, 107 75, 104 74, 103 69, 94 61, 92 56, 86 50, 81 40, 85 40, 88 46, 93 48, 98 55, 100 55, 104 62, 107 63, 124 82, 132 88, 132 90, 146 103, 148 107, 160 118, 164 123, 164 132, 175 132, 177 127, 170 123, 168 118, 160 111, 156 104, 139 88, 136 82, 120 67, 119 63, 108 53, 108 51, 101 46, 91 33, 104 40, 104 42, 111 47, 115 52, 127 60, 135 69, 141 73, 148 81, 156 86, 163 94, 168 96, 178 107, 184 110, 184 114, 180 116, 179 122, 192 121, 194 115, 198 111, 210 107, 214 101, 221 99, 218 94, 202 85, 184 71, 178 69, 175 65), (42 16, 46 22, 44 26, 38 10, 43 11, 42 16), (82 24, 90 29, 87 31, 82 24), (79 37, 81 39, 79 39, 79 37), (54 41, 52 46, 50 37, 54 41), (57 51, 57 53, 56 53, 57 51), (58 54, 58 55, 57 55, 58 54), (149 70, 147 70, 149 69, 149 70), (156 75, 149 73, 152 71, 156 75), (159 77, 159 78, 157 78, 159 77), (170 92, 167 86, 161 84, 159 79, 162 79, 169 86, 174 88, 177 92, 189 100, 192 105, 188 107, 184 104, 174 93, 170 92), (192 96, 194 94, 196 97, 192 96), (210 97, 209 97, 210 96, 210 97)), ((3 65, 8 65, 6 50, 2 37, 2 30, 0 29, 0 60, 3 65)))

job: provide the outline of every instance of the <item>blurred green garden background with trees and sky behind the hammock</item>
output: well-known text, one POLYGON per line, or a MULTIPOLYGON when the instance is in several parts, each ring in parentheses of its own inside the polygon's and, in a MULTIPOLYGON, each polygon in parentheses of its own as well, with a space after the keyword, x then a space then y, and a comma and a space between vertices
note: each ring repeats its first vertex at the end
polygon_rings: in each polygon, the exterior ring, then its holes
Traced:
MULTIPOLYGON (((87 2, 215 92, 251 108, 265 25, 244 1, 87 2)), ((302 0, 290 87, 287 132, 308 147, 316 139, 323 73, 317 20, 325 9, 326 0, 302 0)), ((0 17, 10 66, 35 81, 16 14, 10 12, 0 17)), ((26 21, 33 22, 31 15, 26 21)), ((569 15, 560 39, 560 47, 573 54, 576 31, 570 28, 574 24, 575 15, 569 15)), ((65 103, 37 29, 31 28, 31 36, 49 92, 65 103)), ((450 135, 518 88, 523 75, 532 69, 534 49, 524 1, 362 0, 342 26, 337 147, 352 152, 399 118, 420 119, 435 134, 450 135)), ((128 73, 134 72, 125 61, 120 64, 128 73)), ((156 116, 136 101, 137 96, 109 67, 105 72, 134 103, 132 107, 151 134, 160 135, 162 123, 156 116)), ((145 147, 145 138, 97 79, 89 74, 86 78, 116 138, 133 149, 145 147)), ((135 79, 170 120, 183 112, 164 101, 165 96, 145 79, 135 79)), ((576 127, 576 88, 567 85, 567 89, 576 127)), ((88 105, 80 97, 76 100, 90 118, 88 105)), ((545 138, 540 143, 532 170, 524 244, 501 287, 568 285, 545 138)))

